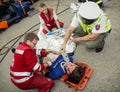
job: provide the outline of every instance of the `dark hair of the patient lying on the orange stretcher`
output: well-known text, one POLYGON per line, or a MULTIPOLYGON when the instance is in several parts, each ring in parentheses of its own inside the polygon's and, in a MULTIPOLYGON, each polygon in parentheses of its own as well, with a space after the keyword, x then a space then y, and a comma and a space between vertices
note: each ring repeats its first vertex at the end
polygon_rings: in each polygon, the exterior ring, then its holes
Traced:
POLYGON ((68 75, 67 81, 78 84, 81 78, 83 77, 85 69, 81 66, 75 67, 75 69, 68 75))

